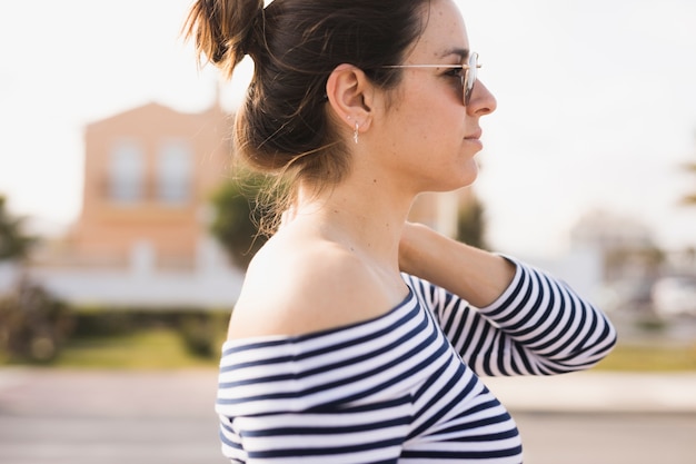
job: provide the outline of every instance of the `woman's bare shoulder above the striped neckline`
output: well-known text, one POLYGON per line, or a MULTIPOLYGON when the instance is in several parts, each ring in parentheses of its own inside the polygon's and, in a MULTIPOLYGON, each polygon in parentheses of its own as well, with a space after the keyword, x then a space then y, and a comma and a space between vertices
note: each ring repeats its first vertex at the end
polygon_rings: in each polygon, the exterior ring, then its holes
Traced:
POLYGON ((279 234, 249 265, 228 337, 301 335, 368 320, 394 306, 394 292, 346 248, 279 234))

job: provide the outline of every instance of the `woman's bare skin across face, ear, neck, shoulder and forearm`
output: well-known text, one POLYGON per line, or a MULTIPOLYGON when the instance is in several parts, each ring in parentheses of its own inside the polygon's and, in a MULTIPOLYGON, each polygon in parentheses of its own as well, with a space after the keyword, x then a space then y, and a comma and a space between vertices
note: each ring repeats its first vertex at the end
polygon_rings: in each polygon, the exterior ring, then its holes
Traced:
MULTIPOLYGON (((427 18, 404 63, 461 63, 466 57, 449 52, 469 49, 456 4, 434 0, 427 18)), ((476 179, 479 119, 496 101, 479 80, 465 107, 459 82, 448 69, 404 69, 387 95, 354 66, 335 69, 328 105, 352 148, 350 174, 318 196, 300 186, 296 208, 247 270, 229 339, 296 336, 379 317, 408 295, 400 272, 479 307, 507 288, 515 269, 504 258, 406 221, 419 192, 476 179)))

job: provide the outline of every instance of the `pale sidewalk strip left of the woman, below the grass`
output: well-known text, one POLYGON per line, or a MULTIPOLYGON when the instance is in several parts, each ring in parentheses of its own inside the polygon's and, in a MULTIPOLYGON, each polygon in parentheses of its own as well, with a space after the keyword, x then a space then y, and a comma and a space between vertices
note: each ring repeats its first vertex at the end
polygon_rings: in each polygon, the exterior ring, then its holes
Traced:
POLYGON ((215 369, 0 368, 0 415, 215 417, 215 369))

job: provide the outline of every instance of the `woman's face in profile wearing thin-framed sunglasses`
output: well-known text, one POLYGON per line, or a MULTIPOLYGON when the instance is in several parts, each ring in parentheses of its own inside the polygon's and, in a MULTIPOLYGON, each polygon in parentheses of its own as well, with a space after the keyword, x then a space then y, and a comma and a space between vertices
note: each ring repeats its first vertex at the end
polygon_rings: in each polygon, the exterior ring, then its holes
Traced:
MULTIPOLYGON (((427 11, 427 10, 426 10, 427 11)), ((432 0, 427 26, 402 65, 463 65, 471 52, 459 9, 451 0, 432 0)), ((478 174, 474 156, 481 150, 479 118, 496 100, 479 80, 464 106, 461 70, 404 68, 392 103, 375 121, 379 152, 404 188, 453 190, 478 174)))

